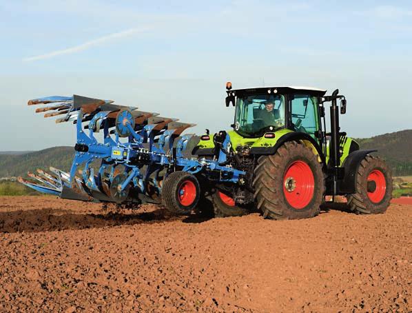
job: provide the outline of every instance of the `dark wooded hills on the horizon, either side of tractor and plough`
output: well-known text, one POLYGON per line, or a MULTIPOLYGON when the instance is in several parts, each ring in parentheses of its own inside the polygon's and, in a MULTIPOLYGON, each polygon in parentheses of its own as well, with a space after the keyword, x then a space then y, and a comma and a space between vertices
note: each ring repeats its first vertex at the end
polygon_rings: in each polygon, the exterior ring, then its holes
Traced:
MULTIPOLYGON (((377 149, 392 168, 393 176, 412 175, 412 130, 356 139, 361 149, 377 149)), ((192 146, 196 144, 189 144, 192 146)), ((189 150, 192 150, 189 148, 189 150)), ((36 152, 0 152, 0 177, 25 176, 37 168, 50 165, 68 171, 74 157, 73 147, 54 147, 36 152)))

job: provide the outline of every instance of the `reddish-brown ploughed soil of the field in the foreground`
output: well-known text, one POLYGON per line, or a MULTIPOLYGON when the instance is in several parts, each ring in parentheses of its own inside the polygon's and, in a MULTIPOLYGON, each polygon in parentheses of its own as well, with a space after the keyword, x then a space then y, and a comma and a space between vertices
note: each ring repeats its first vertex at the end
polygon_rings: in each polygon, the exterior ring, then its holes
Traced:
POLYGON ((0 197, 0 312, 411 312, 412 205, 173 217, 0 197))

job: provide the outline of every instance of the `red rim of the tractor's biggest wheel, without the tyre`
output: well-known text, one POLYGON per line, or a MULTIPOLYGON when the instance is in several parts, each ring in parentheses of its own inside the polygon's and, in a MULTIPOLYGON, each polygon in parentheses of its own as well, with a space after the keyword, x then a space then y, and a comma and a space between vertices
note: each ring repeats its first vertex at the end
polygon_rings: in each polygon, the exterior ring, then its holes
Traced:
POLYGON ((283 178, 283 192, 287 202, 295 209, 305 208, 311 202, 315 179, 307 163, 295 161, 289 165, 283 178))

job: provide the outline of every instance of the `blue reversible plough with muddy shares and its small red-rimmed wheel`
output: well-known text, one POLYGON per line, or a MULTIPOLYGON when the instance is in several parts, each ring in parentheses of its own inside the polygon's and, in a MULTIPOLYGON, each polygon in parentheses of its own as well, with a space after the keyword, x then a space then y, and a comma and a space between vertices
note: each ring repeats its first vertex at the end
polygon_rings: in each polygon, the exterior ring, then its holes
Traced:
MULTIPOLYGON (((228 140, 215 160, 183 156, 194 134, 182 133, 195 124, 78 95, 28 101, 28 105, 46 104, 36 112, 48 112, 45 117, 63 115, 56 123, 76 125, 76 153, 70 172, 50 168, 50 172, 29 172, 29 179, 19 177, 19 182, 39 192, 81 201, 159 203, 163 189, 169 190, 172 210, 189 212, 200 194, 198 174, 231 183, 245 175, 223 165, 228 140), (96 138, 99 132, 103 132, 100 141, 96 138), (98 170, 93 166, 96 163, 98 170), (181 181, 176 190, 167 188, 166 182, 172 184, 176 179, 181 181)), ((165 192, 163 198, 167 198, 165 192)))

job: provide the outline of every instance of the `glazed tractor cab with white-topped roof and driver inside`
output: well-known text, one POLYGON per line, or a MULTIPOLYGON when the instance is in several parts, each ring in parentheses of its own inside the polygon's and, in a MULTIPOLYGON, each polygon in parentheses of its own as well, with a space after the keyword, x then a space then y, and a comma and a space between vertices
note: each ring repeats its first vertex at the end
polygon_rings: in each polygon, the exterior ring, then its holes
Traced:
POLYGON ((320 130, 319 97, 326 90, 305 87, 268 87, 231 90, 226 105, 236 106, 234 130, 243 137, 262 137, 287 128, 317 139, 320 130))

